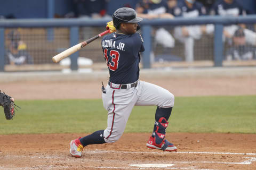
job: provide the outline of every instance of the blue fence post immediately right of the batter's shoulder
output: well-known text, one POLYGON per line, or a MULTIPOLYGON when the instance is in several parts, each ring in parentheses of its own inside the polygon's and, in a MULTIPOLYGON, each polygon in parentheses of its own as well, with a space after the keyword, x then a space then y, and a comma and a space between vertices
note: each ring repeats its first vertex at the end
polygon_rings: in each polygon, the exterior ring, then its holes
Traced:
POLYGON ((143 69, 150 69, 150 52, 151 52, 151 30, 150 25, 143 25, 142 27, 142 36, 143 36, 143 45, 145 47, 145 52, 143 52, 143 69))

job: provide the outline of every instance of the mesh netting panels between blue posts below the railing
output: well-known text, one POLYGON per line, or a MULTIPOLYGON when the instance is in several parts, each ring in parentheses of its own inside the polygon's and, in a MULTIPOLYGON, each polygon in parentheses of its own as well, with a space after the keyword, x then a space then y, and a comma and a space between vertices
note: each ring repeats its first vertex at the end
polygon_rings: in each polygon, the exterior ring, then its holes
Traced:
MULTIPOLYGON (((214 61, 214 27, 207 25, 153 27, 150 61, 197 62, 214 61)), ((227 25, 223 32, 223 61, 250 61, 256 59, 256 33, 254 25, 242 29, 227 25)), ((70 47, 69 28, 16 28, 5 29, 5 64, 54 64, 52 56, 70 47)), ((79 42, 104 31, 103 27, 79 27, 79 42)), ((141 34, 143 32, 139 31, 141 34)), ((105 63, 101 38, 78 52, 79 57, 93 63, 105 63)), ((78 63, 79 64, 79 63, 78 63)))

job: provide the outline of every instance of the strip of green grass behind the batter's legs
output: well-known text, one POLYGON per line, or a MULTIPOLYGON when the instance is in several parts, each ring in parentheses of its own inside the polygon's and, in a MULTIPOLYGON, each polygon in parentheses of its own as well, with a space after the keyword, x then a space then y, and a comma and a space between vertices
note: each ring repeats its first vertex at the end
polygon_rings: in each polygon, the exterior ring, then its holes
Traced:
MULTIPOLYGON (((105 129, 102 100, 17 100, 13 120, 0 109, 0 134, 89 133, 105 129)), ((125 132, 151 132, 155 106, 134 107, 125 132)), ((176 97, 168 132, 256 133, 256 96, 176 97)))

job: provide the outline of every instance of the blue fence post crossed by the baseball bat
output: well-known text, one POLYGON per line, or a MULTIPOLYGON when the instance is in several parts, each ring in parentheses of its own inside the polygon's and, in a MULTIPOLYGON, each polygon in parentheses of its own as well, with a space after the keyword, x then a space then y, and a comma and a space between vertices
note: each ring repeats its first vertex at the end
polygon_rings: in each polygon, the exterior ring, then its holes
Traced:
MULTIPOLYGON (((71 27, 70 28, 70 33, 69 33, 69 45, 70 47, 78 44, 79 41, 79 27, 75 26, 75 27, 71 27)), ((70 56, 70 60, 71 60, 71 65, 70 65, 70 69, 71 70, 78 70, 78 64, 77 64, 77 59, 78 59, 78 52, 72 54, 70 56)))

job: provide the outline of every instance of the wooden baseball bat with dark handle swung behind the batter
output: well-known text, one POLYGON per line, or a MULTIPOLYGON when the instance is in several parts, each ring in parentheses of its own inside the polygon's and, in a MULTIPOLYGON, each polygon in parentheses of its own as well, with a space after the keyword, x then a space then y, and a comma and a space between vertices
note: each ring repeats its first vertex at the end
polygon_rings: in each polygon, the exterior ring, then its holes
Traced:
POLYGON ((61 61, 63 58, 66 58, 68 56, 70 56, 71 54, 77 52, 78 50, 80 50, 81 48, 83 48, 84 46, 86 46, 87 44, 91 43, 92 41, 94 41, 95 39, 106 35, 107 33, 109 33, 110 30, 106 30, 104 32, 99 33, 99 35, 94 36, 90 39, 87 39, 85 41, 83 41, 82 43, 79 43, 77 45, 74 45, 73 47, 70 47, 68 49, 66 49, 65 51, 55 55, 52 57, 52 61, 54 63, 58 63, 59 61, 61 61))

